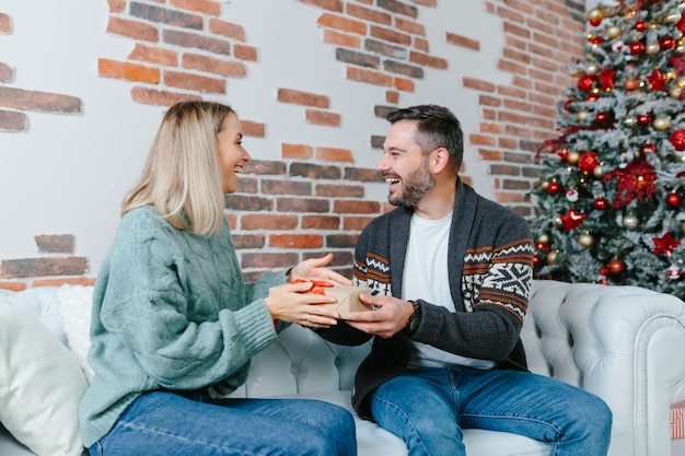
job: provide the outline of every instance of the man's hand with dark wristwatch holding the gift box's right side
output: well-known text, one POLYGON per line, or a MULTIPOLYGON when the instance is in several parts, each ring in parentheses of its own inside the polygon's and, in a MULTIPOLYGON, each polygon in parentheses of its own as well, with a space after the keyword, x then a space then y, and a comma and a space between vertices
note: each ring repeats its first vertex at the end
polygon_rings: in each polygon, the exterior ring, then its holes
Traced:
POLYGON ((360 294, 359 301, 369 308, 374 306, 376 311, 352 312, 347 317, 347 323, 360 331, 383 338, 402 331, 414 314, 410 302, 393 296, 360 294))

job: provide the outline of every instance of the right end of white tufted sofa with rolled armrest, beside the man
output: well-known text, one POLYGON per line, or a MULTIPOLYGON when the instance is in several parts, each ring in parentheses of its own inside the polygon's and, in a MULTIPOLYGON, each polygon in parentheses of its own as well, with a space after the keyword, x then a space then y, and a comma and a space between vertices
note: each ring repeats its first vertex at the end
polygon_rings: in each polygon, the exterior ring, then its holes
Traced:
POLYGON ((669 455, 685 397, 685 303, 638 287, 534 281, 522 331, 531 371, 602 397, 612 455, 669 455))

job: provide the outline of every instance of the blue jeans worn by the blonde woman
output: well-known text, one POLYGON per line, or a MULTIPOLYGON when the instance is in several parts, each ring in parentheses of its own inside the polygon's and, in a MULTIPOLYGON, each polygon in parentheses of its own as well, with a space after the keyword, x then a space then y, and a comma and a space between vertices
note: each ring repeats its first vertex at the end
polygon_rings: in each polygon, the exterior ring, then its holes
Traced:
POLYGON ((355 420, 305 399, 146 394, 89 448, 91 456, 357 455, 355 420))

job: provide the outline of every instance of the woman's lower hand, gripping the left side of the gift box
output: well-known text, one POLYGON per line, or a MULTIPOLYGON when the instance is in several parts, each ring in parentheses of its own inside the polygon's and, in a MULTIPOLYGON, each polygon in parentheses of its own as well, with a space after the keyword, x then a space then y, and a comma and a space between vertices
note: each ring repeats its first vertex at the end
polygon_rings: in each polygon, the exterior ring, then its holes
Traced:
POLYGON ((313 282, 295 282, 281 287, 278 292, 264 299, 271 318, 295 323, 307 328, 328 328, 337 325, 340 314, 322 304, 336 303, 333 296, 306 293, 313 282))

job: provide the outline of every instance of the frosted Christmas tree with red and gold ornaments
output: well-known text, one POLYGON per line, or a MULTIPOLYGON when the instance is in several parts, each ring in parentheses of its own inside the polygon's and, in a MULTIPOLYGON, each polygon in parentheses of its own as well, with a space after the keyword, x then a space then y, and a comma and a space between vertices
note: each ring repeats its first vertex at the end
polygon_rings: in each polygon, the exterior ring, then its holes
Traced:
POLYGON ((537 154, 539 279, 685 299, 685 0, 603 3, 537 154))

